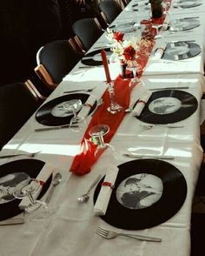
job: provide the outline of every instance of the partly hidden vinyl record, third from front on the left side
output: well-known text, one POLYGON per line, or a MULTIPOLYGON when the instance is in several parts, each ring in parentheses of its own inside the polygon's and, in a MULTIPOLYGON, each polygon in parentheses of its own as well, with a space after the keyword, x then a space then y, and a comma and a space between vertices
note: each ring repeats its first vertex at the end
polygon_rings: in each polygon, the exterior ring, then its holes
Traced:
MULTIPOLYGON (((85 65, 88 65, 88 66, 100 66, 100 65, 102 65, 101 51, 102 51, 102 49, 96 50, 96 51, 91 51, 91 52, 85 54, 85 56, 82 58, 81 62, 85 65)), ((107 58, 108 58, 108 61, 109 61, 109 56, 111 56, 113 52, 110 51, 109 48, 105 48, 104 51, 106 51, 107 58)))

